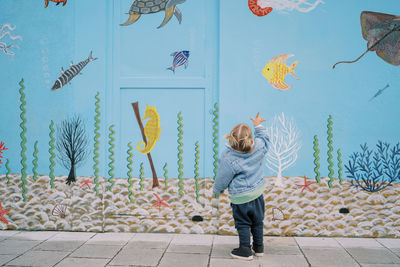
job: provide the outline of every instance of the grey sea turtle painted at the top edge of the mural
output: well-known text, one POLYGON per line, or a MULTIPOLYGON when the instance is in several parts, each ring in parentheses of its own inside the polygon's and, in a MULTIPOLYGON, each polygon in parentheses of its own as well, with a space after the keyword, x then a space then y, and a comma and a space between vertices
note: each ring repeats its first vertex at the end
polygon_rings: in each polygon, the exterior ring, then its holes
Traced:
POLYGON ((157 29, 163 27, 172 18, 172 15, 182 21, 182 13, 176 7, 178 4, 184 3, 186 0, 135 0, 129 9, 129 19, 121 26, 128 26, 135 23, 142 14, 157 13, 165 11, 164 21, 157 29))

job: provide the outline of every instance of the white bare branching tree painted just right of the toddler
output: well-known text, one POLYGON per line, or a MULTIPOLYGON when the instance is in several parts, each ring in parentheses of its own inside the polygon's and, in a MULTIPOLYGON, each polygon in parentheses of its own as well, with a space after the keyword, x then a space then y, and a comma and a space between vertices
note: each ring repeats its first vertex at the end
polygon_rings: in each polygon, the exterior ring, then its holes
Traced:
POLYGON ((267 167, 276 174, 276 186, 283 186, 282 172, 294 165, 299 143, 300 131, 292 118, 286 118, 282 112, 275 116, 271 126, 267 128, 270 144, 267 153, 267 167))

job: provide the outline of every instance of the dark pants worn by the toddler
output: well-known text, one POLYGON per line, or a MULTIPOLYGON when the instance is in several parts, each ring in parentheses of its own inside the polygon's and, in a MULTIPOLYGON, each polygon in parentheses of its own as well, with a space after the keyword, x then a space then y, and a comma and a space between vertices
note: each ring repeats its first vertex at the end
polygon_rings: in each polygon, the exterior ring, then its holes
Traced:
POLYGON ((264 196, 243 204, 232 204, 235 228, 239 234, 240 246, 250 246, 250 231, 253 244, 263 244, 265 202, 264 196))

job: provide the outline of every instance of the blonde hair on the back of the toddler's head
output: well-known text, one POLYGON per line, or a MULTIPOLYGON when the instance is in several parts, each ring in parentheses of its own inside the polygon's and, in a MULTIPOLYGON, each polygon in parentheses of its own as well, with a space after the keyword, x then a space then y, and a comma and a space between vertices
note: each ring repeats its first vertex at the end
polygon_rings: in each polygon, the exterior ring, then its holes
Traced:
POLYGON ((240 152, 247 153, 253 148, 253 133, 246 123, 236 125, 230 134, 224 136, 229 145, 240 152))

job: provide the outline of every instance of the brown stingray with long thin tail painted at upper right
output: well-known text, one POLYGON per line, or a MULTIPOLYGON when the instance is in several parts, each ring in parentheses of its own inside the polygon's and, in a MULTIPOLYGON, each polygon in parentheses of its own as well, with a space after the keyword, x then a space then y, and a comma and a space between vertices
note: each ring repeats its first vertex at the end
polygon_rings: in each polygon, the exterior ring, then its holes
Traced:
POLYGON ((360 20, 363 38, 368 41, 367 50, 355 60, 339 61, 332 68, 340 63, 354 63, 368 51, 375 51, 387 63, 399 66, 400 16, 363 11, 360 20))

